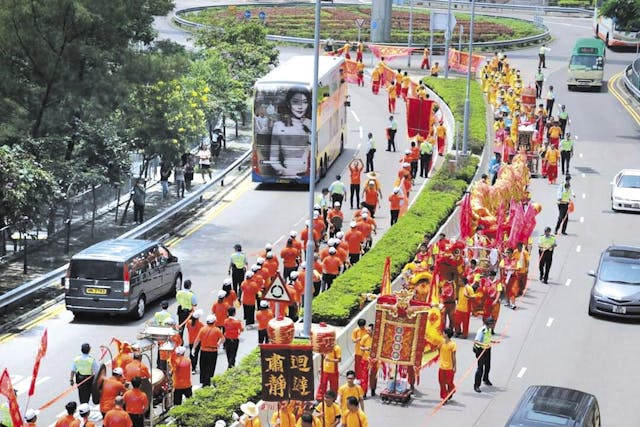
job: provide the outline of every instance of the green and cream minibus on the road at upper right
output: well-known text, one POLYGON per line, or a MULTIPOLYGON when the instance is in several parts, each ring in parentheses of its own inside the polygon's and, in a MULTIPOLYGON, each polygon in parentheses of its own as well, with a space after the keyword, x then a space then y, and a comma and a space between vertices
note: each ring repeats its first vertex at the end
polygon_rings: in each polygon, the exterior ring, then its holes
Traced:
POLYGON ((573 46, 569 69, 567 70, 567 87, 602 88, 604 80, 605 46, 600 39, 578 39, 573 46))

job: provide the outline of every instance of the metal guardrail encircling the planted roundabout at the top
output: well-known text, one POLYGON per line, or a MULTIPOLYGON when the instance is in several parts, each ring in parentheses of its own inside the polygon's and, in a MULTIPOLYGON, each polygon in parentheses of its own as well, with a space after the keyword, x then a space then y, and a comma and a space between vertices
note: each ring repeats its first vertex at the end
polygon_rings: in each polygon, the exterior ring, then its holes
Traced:
MULTIPOLYGON (((438 2, 446 4, 445 0, 440 0, 438 2)), ((416 4, 416 3, 417 2, 414 2, 414 4, 416 4)), ((436 2, 426 2, 426 3, 436 3, 436 2)), ((461 4, 461 5, 467 5, 467 6, 469 5, 468 2, 467 3, 453 2, 453 3, 461 4)), ((407 2, 407 4, 408 4, 408 2, 407 2)), ((422 2, 421 4, 424 5, 425 2, 422 2)), ((501 5, 496 5, 496 4, 493 4, 493 3, 476 3, 476 7, 478 7, 478 5, 481 5, 481 4, 501 6, 501 5)), ((270 3, 270 4, 265 4, 263 6, 269 6, 269 5, 273 5, 273 4, 270 3)), ((345 6, 346 5, 347 4, 345 4, 345 6)), ((335 6, 339 6, 339 5, 335 5, 335 6)), ((514 6, 517 6, 517 5, 514 5, 514 6)), ((189 8, 186 8, 186 9, 176 10, 174 12, 174 14, 173 14, 173 20, 179 26, 185 27, 185 28, 190 28, 190 29, 203 29, 203 28, 206 28, 207 25, 200 24, 200 23, 193 22, 193 21, 189 21, 189 20, 181 17, 181 15, 184 15, 184 14, 190 13, 190 12, 200 12, 202 10, 205 10, 205 9, 208 9, 208 8, 211 8, 211 7, 215 7, 215 6, 197 6, 197 7, 189 7, 189 8)), ((521 6, 521 7, 523 7, 523 8, 532 8, 532 6, 521 6)), ((519 18, 514 18, 514 19, 519 19, 519 18)), ((485 48, 485 49, 498 49, 498 48, 502 48, 502 47, 522 46, 522 45, 528 45, 528 44, 541 42, 543 40, 547 40, 551 36, 551 32, 549 31, 549 28, 547 28, 540 20, 534 19, 533 21, 529 21, 529 20, 523 19, 523 21, 531 22, 531 23, 535 24, 536 26, 538 26, 539 28, 542 28, 544 31, 541 34, 537 34, 537 35, 531 36, 531 37, 523 37, 523 38, 520 38, 520 39, 496 40, 496 41, 490 41, 490 42, 475 42, 473 44, 474 47, 485 48)), ((313 39, 312 38, 277 36, 277 35, 272 35, 272 34, 267 35, 267 40, 274 41, 274 42, 280 42, 280 43, 313 44, 313 39)), ((376 43, 376 44, 393 45, 393 46, 406 45, 406 43, 376 43)), ((433 49, 434 50, 436 50, 436 49, 440 49, 441 50, 441 49, 444 49, 444 47, 445 47, 444 43, 434 43, 433 44, 433 49)), ((420 53, 420 52, 418 52, 418 50, 416 50, 416 52, 414 52, 414 53, 417 54, 417 53, 420 53)))

